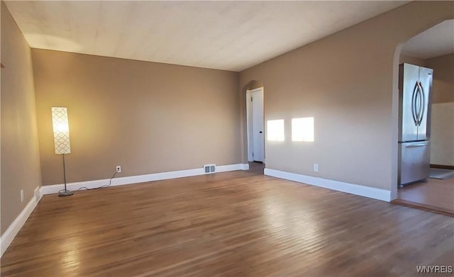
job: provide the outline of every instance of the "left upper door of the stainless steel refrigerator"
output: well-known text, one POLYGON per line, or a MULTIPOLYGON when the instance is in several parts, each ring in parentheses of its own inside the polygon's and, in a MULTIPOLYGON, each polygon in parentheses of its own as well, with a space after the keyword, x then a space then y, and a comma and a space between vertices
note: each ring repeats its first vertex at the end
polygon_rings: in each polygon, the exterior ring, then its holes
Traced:
POLYGON ((418 118, 414 103, 419 96, 419 67, 401 64, 399 68, 399 142, 418 140, 418 118))

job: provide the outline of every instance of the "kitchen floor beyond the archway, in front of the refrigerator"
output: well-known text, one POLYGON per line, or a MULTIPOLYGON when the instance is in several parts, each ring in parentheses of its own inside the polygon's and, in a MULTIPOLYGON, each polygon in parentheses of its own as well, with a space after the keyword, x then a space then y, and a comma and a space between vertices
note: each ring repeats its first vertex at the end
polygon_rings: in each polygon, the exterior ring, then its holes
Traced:
POLYGON ((426 182, 404 186, 397 191, 397 200, 393 203, 454 216, 454 177, 429 178, 426 182))

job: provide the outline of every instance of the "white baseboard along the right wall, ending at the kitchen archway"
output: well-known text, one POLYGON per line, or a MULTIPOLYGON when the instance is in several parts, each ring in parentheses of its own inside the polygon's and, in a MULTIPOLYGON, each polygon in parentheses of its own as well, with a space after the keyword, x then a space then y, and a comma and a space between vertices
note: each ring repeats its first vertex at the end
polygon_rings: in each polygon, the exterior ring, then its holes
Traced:
POLYGON ((297 181, 299 183, 307 183, 309 185, 319 186, 321 188, 329 188, 333 191, 342 191, 344 193, 355 194, 357 196, 365 196, 368 198, 387 202, 391 201, 391 191, 387 191, 381 188, 372 188, 370 186, 361 186, 354 183, 333 181, 330 179, 306 176, 275 169, 265 169, 264 174, 267 176, 273 176, 290 181, 297 181))

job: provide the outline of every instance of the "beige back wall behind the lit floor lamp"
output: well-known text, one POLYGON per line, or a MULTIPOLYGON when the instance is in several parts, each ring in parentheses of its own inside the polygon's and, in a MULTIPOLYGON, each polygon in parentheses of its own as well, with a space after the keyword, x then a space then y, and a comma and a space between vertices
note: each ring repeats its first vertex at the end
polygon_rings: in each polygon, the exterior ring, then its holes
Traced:
POLYGON ((68 108, 69 182, 241 162, 238 72, 32 53, 43 185, 63 181, 52 106, 68 108))

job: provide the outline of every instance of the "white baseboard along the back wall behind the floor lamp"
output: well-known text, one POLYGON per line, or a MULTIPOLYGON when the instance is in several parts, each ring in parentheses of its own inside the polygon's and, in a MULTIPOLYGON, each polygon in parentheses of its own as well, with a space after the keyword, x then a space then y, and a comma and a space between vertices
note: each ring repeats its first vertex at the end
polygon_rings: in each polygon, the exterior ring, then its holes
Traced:
MULTIPOLYGON (((216 172, 248 170, 248 169, 249 169, 249 164, 227 164, 227 165, 222 165, 222 166, 216 166, 216 172)), ((160 172, 160 173, 153 173, 153 174, 119 177, 119 178, 112 179, 111 186, 123 186, 123 185, 128 185, 130 183, 160 181, 160 180, 175 179, 175 178, 197 176, 197 175, 204 175, 204 174, 206 174, 204 169, 200 168, 200 169, 187 169, 187 170, 179 170, 179 171, 167 171, 167 172, 160 172)), ((67 189, 70 191, 77 191, 79 188, 82 188, 82 187, 99 188, 100 186, 106 186, 106 185, 109 185, 109 179, 74 182, 74 183, 66 184, 67 189)), ((65 185, 63 183, 59 183, 56 185, 41 186, 40 194, 45 195, 45 194, 51 194, 51 193, 58 193, 58 191, 60 191, 64 188, 65 188, 65 185)))

